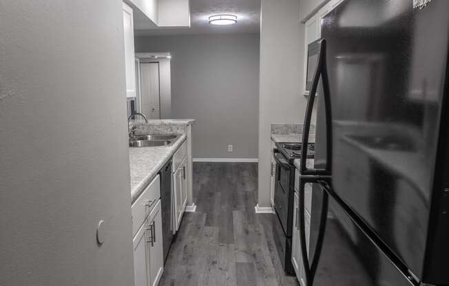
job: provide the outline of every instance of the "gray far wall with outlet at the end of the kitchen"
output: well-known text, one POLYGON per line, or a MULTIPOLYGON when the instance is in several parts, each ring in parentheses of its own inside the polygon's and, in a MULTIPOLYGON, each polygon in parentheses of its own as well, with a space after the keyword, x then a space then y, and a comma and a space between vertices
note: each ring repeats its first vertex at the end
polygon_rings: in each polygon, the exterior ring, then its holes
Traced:
POLYGON ((258 157, 259 43, 259 34, 136 38, 136 52, 171 53, 171 115, 196 119, 194 157, 258 157))

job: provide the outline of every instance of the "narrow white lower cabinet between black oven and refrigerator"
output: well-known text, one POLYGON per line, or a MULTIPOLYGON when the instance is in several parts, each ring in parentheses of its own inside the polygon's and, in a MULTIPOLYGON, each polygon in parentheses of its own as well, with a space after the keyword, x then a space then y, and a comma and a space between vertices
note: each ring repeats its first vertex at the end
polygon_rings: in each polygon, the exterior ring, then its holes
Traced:
MULTIPOLYGON (((302 263, 301 243, 300 243, 300 200, 297 192, 295 192, 294 206, 293 206, 293 236, 292 236, 292 250, 291 263, 295 269, 297 280, 302 286, 306 285, 304 264, 302 263)), ((310 215, 304 211, 304 223, 306 232, 306 248, 309 253, 309 236, 310 236, 310 215)))

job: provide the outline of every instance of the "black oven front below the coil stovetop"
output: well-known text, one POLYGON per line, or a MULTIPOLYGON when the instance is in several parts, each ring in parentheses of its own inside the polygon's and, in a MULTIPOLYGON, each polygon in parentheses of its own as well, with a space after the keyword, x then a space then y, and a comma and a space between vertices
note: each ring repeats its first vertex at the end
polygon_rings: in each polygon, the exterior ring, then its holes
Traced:
POLYGON ((278 149, 273 150, 273 157, 276 162, 273 238, 285 272, 293 275, 295 272, 291 264, 291 236, 293 232, 295 166, 278 149))

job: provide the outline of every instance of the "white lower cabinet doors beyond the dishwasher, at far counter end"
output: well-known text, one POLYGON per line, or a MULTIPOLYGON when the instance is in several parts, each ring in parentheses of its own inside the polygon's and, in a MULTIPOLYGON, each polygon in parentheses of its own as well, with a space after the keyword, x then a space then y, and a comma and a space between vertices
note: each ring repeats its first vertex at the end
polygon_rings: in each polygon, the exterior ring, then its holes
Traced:
POLYGON ((174 193, 174 225, 175 231, 179 230, 182 215, 187 206, 187 157, 182 159, 181 164, 173 175, 173 193, 174 193))

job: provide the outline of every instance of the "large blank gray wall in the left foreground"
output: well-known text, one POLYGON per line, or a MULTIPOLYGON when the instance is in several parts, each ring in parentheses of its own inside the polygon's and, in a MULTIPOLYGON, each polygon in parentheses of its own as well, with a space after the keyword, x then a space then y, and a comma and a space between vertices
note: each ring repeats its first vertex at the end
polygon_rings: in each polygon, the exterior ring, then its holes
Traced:
POLYGON ((0 285, 134 285, 121 5, 0 0, 0 285))

